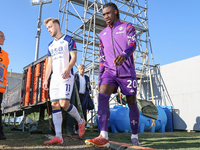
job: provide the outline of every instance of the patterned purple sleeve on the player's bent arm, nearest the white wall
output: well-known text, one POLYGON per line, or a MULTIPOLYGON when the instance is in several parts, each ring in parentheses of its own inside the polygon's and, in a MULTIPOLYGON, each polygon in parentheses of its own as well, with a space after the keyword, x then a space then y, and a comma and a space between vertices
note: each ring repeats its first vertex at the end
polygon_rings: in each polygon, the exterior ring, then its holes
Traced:
POLYGON ((126 59, 130 57, 136 49, 137 35, 135 32, 135 28, 131 23, 127 24, 126 27, 127 34, 127 45, 128 47, 122 52, 122 55, 126 56, 126 59))

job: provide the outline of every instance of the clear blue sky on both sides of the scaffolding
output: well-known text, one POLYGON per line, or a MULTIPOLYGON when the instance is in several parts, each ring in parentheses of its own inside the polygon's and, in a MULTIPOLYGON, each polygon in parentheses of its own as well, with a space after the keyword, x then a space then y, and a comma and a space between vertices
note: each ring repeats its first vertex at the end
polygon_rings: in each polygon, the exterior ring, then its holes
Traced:
MULTIPOLYGON (((58 8, 59 0, 43 5, 42 22, 48 17, 58 18, 58 8)), ((148 1, 155 64, 165 65, 200 54, 199 8, 199 0, 148 1)), ((8 69, 22 73, 35 59, 39 6, 32 6, 30 0, 0 0, 0 10, 0 30, 6 36, 2 49, 9 53, 10 59, 8 69)), ((41 27, 39 57, 47 54, 47 45, 53 40, 46 27, 41 27)))

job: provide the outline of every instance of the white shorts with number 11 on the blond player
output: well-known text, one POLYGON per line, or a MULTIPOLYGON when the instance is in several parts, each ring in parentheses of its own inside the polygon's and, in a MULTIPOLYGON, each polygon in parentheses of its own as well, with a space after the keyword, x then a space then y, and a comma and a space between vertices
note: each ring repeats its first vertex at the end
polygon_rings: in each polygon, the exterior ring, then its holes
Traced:
POLYGON ((67 79, 52 77, 50 82, 50 101, 70 100, 73 86, 73 75, 70 75, 67 79))

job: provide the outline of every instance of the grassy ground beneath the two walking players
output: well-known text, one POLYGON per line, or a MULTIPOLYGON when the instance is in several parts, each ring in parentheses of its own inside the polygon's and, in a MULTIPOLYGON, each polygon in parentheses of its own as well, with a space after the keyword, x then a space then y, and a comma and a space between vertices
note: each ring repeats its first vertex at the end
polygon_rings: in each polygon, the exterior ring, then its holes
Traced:
MULTIPOLYGON (((9 127, 4 128, 4 133, 7 140, 0 140, 1 150, 104 150, 103 148, 88 147, 84 143, 85 139, 94 138, 99 135, 99 132, 95 129, 92 132, 91 130, 87 130, 82 139, 63 134, 64 143, 62 145, 51 146, 43 145, 43 142, 51 136, 50 134, 30 134, 29 132, 11 130, 9 127)), ((131 145, 130 135, 130 133, 109 133, 109 139, 110 141, 131 145)), ((139 141, 143 148, 200 150, 200 132, 144 132, 139 133, 139 141)))

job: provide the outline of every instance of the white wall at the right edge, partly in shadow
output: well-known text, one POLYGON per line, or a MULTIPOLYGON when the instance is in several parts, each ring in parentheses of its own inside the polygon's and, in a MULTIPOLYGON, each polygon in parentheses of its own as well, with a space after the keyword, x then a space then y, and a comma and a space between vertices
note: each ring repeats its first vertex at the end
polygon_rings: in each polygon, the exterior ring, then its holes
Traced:
POLYGON ((156 105, 173 107, 175 130, 200 131, 200 55, 152 71, 156 105))

